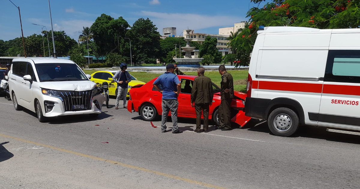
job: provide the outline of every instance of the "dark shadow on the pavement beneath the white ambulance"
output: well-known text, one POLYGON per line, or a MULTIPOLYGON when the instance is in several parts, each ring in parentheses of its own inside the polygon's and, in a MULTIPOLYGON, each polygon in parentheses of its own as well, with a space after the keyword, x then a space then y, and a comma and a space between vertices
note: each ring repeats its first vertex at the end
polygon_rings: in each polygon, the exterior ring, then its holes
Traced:
MULTIPOLYGON (((274 135, 270 132, 267 122, 264 120, 262 121, 251 120, 242 129, 247 129, 249 131, 256 131, 256 132, 265 132, 265 133, 269 133, 270 135, 274 135)), ((304 138, 322 139, 322 140, 342 142, 342 143, 360 144, 360 136, 341 134, 336 132, 328 132, 326 131, 326 129, 327 127, 300 125, 297 132, 289 137, 291 138, 304 137, 304 138)))

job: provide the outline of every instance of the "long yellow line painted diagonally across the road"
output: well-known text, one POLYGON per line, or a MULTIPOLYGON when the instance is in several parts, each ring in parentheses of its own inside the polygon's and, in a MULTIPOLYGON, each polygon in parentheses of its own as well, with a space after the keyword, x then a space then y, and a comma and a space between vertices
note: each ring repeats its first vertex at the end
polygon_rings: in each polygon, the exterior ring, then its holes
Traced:
POLYGON ((208 187, 208 188, 215 188, 215 189, 227 189, 227 188, 223 188, 223 187, 220 187, 220 186, 215 186, 215 185, 212 185, 212 184, 207 184, 207 183, 203 183, 203 182, 199 182, 199 181, 195 181, 195 180, 186 179, 186 178, 183 178, 183 177, 180 177, 180 176, 170 175, 170 174, 166 174, 166 173, 163 173, 163 172, 153 171, 153 170, 149 170, 147 168, 136 167, 136 166, 128 165, 128 164, 125 164, 125 163, 120 163, 120 162, 116 162, 116 161, 112 161, 112 160, 108 160, 108 159, 103 159, 103 158, 99 158, 99 157, 95 157, 95 156, 89 156, 89 155, 86 155, 86 154, 83 154, 83 153, 73 152, 73 151, 70 151, 70 150, 57 148, 57 147, 53 147, 53 146, 46 145, 46 144, 40 144, 40 143, 36 143, 36 142, 33 142, 33 141, 29 141, 29 140, 19 139, 19 138, 15 138, 15 137, 8 136, 8 135, 0 134, 0 136, 3 136, 5 138, 18 140, 18 141, 22 141, 24 143, 35 144, 35 145, 38 145, 38 146, 58 150, 60 152, 71 153, 71 154, 75 154, 77 156, 82 156, 82 157, 86 157, 86 158, 90 158, 90 159, 96 159, 98 161, 104 161, 104 162, 112 163, 112 164, 119 165, 119 166, 122 166, 122 167, 127 167, 127 168, 131 168, 131 169, 136 169, 136 170, 139 170, 139 171, 144 171, 144 172, 156 174, 156 175, 159 175, 159 176, 168 177, 170 179, 181 180, 181 181, 184 181, 184 182, 190 183, 190 184, 196 184, 196 185, 201 185, 201 186, 205 186, 205 187, 208 187))

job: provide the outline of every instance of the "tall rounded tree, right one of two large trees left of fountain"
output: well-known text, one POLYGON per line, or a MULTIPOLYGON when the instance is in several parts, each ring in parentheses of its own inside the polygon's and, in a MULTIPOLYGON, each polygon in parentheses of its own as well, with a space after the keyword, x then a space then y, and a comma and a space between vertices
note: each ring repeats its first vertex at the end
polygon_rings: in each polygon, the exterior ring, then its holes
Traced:
POLYGON ((161 55, 160 34, 157 29, 149 18, 139 18, 132 25, 127 36, 131 39, 133 62, 156 63, 161 55))

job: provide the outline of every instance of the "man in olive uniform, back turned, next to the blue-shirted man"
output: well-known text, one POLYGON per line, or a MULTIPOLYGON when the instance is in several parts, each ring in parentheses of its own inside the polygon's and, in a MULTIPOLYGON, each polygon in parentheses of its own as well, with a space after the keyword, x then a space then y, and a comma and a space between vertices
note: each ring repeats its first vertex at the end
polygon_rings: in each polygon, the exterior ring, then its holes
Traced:
POLYGON ((209 127, 209 105, 212 104, 212 98, 214 96, 212 91, 211 79, 204 76, 204 67, 198 68, 198 76, 194 79, 193 89, 191 91, 191 107, 194 107, 196 111, 196 129, 195 132, 201 130, 201 111, 204 116, 204 132, 208 132, 209 127))

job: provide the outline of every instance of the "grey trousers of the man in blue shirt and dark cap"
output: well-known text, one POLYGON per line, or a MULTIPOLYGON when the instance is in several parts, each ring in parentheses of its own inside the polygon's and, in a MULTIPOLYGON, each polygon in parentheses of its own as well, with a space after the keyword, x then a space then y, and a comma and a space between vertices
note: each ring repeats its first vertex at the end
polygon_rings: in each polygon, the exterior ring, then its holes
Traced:
POLYGON ((166 122, 167 122, 167 115, 169 111, 171 112, 171 120, 172 120, 172 132, 176 132, 179 130, 177 126, 177 106, 179 102, 174 99, 163 99, 161 106, 162 106, 162 117, 161 117, 161 131, 166 131, 166 122))

